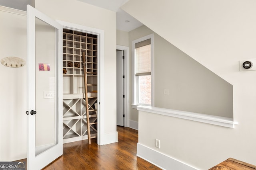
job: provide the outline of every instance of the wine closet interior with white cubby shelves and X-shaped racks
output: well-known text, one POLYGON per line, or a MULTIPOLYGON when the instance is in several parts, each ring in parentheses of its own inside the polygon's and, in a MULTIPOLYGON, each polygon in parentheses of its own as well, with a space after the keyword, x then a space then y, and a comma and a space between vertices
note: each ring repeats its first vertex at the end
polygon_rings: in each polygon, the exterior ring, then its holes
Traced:
POLYGON ((97 137, 98 36, 63 29, 63 143, 88 139, 82 53, 86 78, 91 137, 97 137))

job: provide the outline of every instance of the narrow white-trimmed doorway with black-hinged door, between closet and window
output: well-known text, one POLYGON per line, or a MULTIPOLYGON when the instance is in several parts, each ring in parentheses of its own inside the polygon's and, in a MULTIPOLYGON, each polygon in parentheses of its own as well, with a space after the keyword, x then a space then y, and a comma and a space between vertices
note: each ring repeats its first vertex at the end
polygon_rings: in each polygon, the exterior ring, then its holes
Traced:
POLYGON ((116 125, 123 127, 129 127, 128 51, 129 47, 116 48, 116 125))

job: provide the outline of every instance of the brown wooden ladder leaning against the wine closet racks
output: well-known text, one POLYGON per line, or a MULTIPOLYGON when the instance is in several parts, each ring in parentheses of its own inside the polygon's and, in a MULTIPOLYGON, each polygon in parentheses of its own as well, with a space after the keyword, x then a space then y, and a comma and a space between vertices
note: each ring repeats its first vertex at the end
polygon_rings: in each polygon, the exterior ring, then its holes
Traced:
POLYGON ((94 125, 96 123, 90 123, 85 52, 83 52, 82 57, 83 57, 83 65, 84 65, 84 93, 85 93, 85 102, 86 102, 86 121, 87 121, 88 143, 89 143, 89 145, 91 145, 91 139, 95 138, 95 137, 91 137, 90 127, 91 127, 91 125, 94 125))

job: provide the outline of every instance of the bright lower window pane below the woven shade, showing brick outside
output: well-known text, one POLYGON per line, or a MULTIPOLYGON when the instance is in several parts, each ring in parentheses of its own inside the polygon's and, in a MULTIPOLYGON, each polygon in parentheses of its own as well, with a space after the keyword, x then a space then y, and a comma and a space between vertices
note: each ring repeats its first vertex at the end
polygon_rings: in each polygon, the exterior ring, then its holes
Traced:
POLYGON ((151 105, 151 75, 138 76, 138 102, 151 105))

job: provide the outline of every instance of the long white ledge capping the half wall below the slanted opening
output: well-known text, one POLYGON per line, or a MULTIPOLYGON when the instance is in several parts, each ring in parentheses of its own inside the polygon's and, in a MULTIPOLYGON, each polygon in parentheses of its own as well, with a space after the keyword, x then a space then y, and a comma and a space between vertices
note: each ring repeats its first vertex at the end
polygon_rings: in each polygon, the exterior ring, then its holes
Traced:
POLYGON ((164 109, 164 108, 151 107, 151 106, 138 106, 137 109, 138 111, 146 111, 149 113, 155 113, 159 115, 178 117, 181 119, 198 121, 198 122, 203 122, 203 123, 208 123, 208 124, 218 125, 223 127, 234 128, 234 125, 238 124, 237 122, 234 122, 232 118, 206 115, 201 113, 193 113, 188 111, 164 109))

